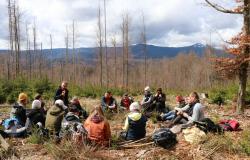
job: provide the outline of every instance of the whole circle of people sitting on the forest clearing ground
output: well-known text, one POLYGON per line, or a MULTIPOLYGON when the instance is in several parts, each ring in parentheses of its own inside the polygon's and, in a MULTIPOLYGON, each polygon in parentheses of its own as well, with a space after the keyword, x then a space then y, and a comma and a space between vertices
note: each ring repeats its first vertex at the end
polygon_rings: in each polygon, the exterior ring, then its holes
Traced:
MULTIPOLYGON (((137 140, 145 137, 148 118, 145 113, 153 110, 158 113, 158 120, 171 120, 169 127, 178 123, 191 125, 194 121, 204 118, 203 107, 196 92, 192 92, 186 99, 177 96, 178 107, 167 112, 165 109, 166 95, 162 93, 161 88, 157 89, 155 95, 151 93, 149 87, 146 87, 144 91, 141 102, 134 102, 127 93, 121 99, 121 107, 129 111, 120 136, 124 140, 137 140)), ((1 135, 21 137, 23 131, 27 130, 29 126, 39 124, 46 128, 50 135, 60 138, 65 135, 65 129, 69 128, 68 125, 72 123, 72 130, 77 132, 81 128, 87 133, 90 142, 108 146, 111 129, 104 112, 116 112, 119 109, 112 93, 107 91, 101 99, 101 105, 94 107, 91 114, 88 115, 81 107, 77 97, 73 97, 71 101, 68 100, 68 92, 67 83, 62 82, 56 92, 54 105, 47 111, 44 109, 42 96, 37 95, 29 113, 26 113, 25 109, 28 96, 25 93, 19 94, 18 102, 12 107, 10 118, 3 121, 5 130, 0 132, 1 135)))

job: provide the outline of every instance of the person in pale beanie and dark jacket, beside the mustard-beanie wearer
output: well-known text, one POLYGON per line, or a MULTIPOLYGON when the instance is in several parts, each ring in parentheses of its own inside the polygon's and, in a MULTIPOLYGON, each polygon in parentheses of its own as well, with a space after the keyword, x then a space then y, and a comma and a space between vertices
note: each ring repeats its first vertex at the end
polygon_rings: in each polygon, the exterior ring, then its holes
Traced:
POLYGON ((45 126, 45 114, 41 110, 41 105, 42 103, 39 100, 35 99, 32 102, 32 109, 27 115, 32 126, 36 125, 38 122, 41 122, 42 126, 45 126))

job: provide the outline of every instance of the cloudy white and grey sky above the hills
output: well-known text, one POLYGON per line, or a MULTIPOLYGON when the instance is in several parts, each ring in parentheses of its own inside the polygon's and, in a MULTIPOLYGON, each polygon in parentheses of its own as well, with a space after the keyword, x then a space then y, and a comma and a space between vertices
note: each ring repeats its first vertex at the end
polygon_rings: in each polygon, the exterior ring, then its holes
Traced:
MULTIPOLYGON (((116 36, 120 42, 122 15, 129 14, 130 40, 138 43, 145 17, 147 41, 158 46, 186 46, 194 43, 223 45, 242 26, 238 15, 219 13, 205 5, 204 0, 106 0, 107 40, 116 36)), ((211 0, 232 8, 234 0, 211 0)), ((76 21, 77 47, 96 46, 97 11, 103 0, 19 0, 22 33, 25 24, 37 27, 37 41, 49 48, 49 35, 54 47, 64 47, 66 28, 71 31, 76 21)), ((8 47, 7 0, 0 0, 0 48, 8 47)), ((30 31, 31 34, 31 31, 30 31)))

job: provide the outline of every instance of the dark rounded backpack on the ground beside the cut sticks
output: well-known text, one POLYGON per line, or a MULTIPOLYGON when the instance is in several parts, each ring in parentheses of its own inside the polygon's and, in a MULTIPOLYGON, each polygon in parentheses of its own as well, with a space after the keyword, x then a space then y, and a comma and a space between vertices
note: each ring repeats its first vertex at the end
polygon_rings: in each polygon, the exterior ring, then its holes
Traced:
POLYGON ((169 149, 177 143, 176 134, 174 134, 169 128, 160 128, 155 131, 152 139, 156 145, 165 149, 169 149))

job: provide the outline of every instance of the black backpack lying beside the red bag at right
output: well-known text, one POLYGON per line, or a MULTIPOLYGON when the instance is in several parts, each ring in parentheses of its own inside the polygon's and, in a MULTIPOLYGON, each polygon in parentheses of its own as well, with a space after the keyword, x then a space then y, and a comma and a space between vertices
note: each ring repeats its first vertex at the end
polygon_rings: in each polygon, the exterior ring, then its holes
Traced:
POLYGON ((204 131, 205 133, 223 133, 223 129, 215 124, 210 118, 204 118, 201 121, 195 121, 194 124, 197 128, 204 131))

